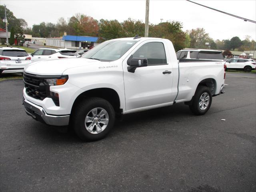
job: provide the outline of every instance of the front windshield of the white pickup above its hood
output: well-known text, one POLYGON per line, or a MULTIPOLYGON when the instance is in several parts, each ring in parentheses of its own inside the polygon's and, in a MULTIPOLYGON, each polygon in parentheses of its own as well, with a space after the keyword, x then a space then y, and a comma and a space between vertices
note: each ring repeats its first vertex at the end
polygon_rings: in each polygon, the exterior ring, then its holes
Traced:
POLYGON ((82 56, 100 61, 114 61, 122 57, 138 41, 106 41, 82 56))

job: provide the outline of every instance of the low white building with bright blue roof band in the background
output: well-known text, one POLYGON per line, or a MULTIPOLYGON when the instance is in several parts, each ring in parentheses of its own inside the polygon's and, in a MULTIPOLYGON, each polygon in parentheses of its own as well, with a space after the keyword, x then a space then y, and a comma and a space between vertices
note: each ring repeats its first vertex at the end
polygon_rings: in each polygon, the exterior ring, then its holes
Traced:
POLYGON ((98 37, 65 35, 62 38, 46 38, 46 45, 68 49, 90 49, 98 45, 98 37))

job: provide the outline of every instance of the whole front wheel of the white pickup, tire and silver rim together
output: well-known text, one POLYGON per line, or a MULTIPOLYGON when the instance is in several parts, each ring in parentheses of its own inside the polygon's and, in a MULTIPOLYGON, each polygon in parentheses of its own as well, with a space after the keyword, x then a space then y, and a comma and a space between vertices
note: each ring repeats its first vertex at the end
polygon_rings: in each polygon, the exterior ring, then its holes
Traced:
POLYGON ((104 138, 115 122, 112 105, 102 98, 88 98, 75 108, 72 114, 72 127, 76 134, 86 141, 104 138))

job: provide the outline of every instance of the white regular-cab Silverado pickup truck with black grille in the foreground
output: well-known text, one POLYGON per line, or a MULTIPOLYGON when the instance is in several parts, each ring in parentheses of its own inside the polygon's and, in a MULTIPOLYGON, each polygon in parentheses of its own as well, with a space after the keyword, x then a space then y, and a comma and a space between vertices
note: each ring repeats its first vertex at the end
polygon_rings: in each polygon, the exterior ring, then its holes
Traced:
POLYGON ((179 102, 203 115, 224 78, 224 62, 178 62, 170 40, 136 36, 103 42, 82 58, 30 64, 22 101, 34 119, 99 140, 116 115, 179 102))

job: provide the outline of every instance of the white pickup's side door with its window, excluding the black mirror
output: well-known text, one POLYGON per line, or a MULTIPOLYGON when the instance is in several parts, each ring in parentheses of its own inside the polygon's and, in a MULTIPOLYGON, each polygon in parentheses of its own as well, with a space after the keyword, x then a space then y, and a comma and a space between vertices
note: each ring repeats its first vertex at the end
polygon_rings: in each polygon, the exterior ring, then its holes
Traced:
MULTIPOLYGON (((176 58, 173 58, 176 60, 176 58)), ((170 105, 172 98, 172 64, 163 40, 145 41, 123 61, 126 111, 132 112, 170 105), (147 58, 148 66, 128 72, 127 60, 147 58)))

